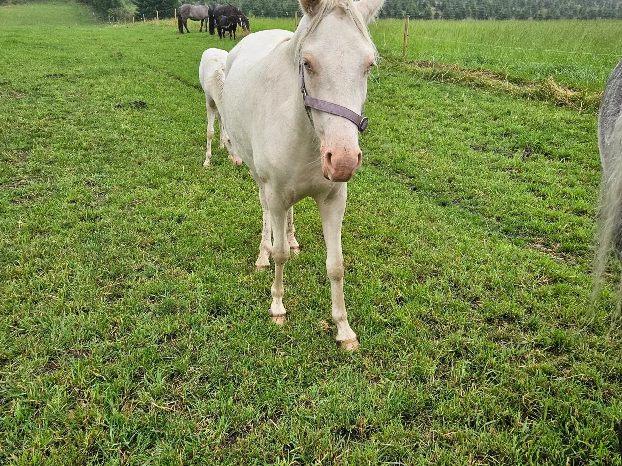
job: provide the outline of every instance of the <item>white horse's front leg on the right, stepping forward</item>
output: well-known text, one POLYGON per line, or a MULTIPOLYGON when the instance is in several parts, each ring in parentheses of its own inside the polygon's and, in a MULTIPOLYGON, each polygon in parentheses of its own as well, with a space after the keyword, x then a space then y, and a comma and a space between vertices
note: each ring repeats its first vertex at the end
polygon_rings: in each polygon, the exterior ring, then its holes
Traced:
MULTIPOLYGON (((328 196, 332 196, 328 194, 328 196)), ((346 350, 358 348, 358 339, 348 323, 348 313, 343 301, 343 256, 341 255, 341 222, 348 197, 348 185, 343 183, 332 199, 316 199, 326 242, 326 271, 330 278, 333 303, 333 322, 337 326, 337 345, 346 350)))

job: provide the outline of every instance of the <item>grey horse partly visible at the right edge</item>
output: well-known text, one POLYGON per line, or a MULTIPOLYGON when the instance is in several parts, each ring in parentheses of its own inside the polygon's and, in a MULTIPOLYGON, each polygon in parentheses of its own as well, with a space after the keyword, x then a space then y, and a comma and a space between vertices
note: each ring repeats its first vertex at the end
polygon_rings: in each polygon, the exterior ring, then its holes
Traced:
MULTIPOLYGON (((622 263, 622 60, 605 87, 598 111, 598 149, 603 176, 600 183, 598 251, 594 261, 595 289, 605 272, 611 249, 622 263)), ((622 283, 622 279, 621 279, 622 283)))

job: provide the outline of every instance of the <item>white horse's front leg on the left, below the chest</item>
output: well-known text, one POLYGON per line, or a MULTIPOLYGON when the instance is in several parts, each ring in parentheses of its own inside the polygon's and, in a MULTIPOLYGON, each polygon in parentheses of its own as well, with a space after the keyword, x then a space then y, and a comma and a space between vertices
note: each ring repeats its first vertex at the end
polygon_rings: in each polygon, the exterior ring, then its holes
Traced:
POLYGON ((272 322, 277 325, 285 324, 285 306, 283 306, 283 270, 285 262, 289 259, 289 244, 287 243, 287 210, 288 206, 283 204, 280 196, 271 191, 270 186, 266 186, 266 199, 272 220, 272 260, 274 260, 274 282, 270 289, 272 293, 272 303, 270 304, 269 315, 272 322))

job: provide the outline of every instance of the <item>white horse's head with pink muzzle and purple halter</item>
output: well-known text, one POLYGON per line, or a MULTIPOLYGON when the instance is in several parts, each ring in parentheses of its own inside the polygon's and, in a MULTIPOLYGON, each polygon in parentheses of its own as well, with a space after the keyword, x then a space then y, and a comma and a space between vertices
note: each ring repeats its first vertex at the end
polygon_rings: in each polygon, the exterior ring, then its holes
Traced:
MULTIPOLYGON (((376 48, 367 24, 384 0, 300 0, 300 75, 315 99, 359 114, 367 97, 367 77, 376 63, 376 48), (335 34, 339 31, 339 34, 335 34)), ((322 173, 348 181, 361 166, 359 128, 345 117, 308 109, 320 138, 322 173)))

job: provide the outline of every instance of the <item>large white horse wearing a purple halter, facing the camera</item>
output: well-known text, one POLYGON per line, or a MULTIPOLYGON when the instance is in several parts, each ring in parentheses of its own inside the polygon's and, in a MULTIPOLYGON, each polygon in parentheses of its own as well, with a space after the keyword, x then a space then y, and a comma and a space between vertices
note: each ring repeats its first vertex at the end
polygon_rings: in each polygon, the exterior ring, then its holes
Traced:
POLYGON ((283 268, 290 251, 299 251, 292 205, 311 196, 322 218, 337 344, 348 350, 358 340, 343 301, 341 222, 346 181, 361 165, 358 130, 366 121, 358 112, 376 60, 367 24, 383 2, 300 0, 305 14, 295 33, 256 32, 231 50, 223 92, 231 143, 259 186, 263 233, 255 265, 262 270, 274 260, 269 315, 284 324, 283 268))

